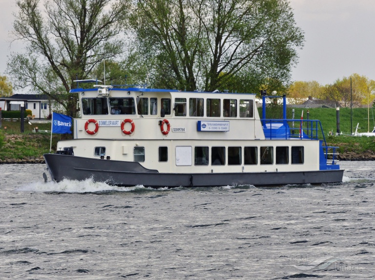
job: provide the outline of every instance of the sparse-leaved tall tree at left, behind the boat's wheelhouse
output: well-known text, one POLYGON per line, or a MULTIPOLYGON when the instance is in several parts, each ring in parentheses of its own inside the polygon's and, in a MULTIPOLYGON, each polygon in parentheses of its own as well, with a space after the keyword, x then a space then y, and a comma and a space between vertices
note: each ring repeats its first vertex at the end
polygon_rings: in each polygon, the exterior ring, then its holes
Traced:
POLYGON ((25 54, 12 54, 7 72, 15 87, 31 87, 75 113, 73 80, 91 78, 95 66, 124 48, 120 35, 130 0, 17 0, 13 23, 25 54))

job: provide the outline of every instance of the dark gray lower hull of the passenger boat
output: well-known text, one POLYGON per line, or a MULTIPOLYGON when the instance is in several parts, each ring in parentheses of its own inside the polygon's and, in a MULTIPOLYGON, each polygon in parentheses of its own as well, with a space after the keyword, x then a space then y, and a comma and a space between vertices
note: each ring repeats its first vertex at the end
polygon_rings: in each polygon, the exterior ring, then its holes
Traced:
POLYGON ((285 185, 341 182, 344 170, 259 173, 192 173, 169 174, 144 168, 138 162, 89 159, 76 156, 45 154, 52 180, 85 180, 117 186, 204 187, 226 185, 285 185))

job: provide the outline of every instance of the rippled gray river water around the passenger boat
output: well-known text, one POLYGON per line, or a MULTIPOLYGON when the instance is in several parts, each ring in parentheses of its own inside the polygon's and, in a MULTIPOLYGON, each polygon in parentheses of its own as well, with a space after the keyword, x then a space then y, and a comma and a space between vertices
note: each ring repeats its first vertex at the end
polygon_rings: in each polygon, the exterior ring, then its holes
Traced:
POLYGON ((319 186, 44 183, 0 165, 0 279, 375 279, 375 161, 319 186))

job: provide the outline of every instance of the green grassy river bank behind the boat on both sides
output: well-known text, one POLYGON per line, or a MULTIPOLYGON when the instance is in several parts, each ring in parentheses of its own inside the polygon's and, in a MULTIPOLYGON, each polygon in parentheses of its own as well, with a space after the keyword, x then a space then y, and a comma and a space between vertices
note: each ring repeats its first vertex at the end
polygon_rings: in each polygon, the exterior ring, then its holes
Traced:
MULTIPOLYGON (((306 120, 307 110, 303 109, 303 111, 304 120, 306 120)), ((280 108, 277 108, 274 112, 276 113, 273 116, 267 115, 267 118, 279 118, 282 116, 282 110, 280 110, 280 108)), ((359 122, 359 127, 361 127, 358 132, 367 132, 367 108, 355 108, 352 113, 353 132, 357 122, 359 122)), ((375 125, 371 108, 369 113, 371 131, 375 125)), ((294 109, 294 119, 300 120, 301 114, 301 108, 294 109)), ((336 132, 336 109, 309 109, 309 119, 321 121, 328 145, 338 146, 339 153, 343 155, 353 154, 363 156, 364 159, 372 159, 372 156, 375 155, 375 137, 349 136, 351 134, 351 110, 350 108, 340 108, 339 114, 340 132, 343 134, 339 136, 329 136, 329 131, 333 131, 333 134, 336 132)), ((292 108, 288 108, 287 118, 292 119, 292 108)), ((40 158, 44 153, 49 152, 51 134, 48 131, 50 130, 51 123, 34 123, 29 125, 26 121, 24 124, 24 133, 21 133, 21 123, 19 121, 2 121, 2 126, 0 128, 0 160, 40 158), (39 128, 38 133, 32 132, 36 126, 39 128)), ((320 138, 321 137, 322 135, 320 135, 320 138)), ((52 152, 56 151, 57 141, 69 138, 71 138, 70 135, 53 134, 52 152)))

